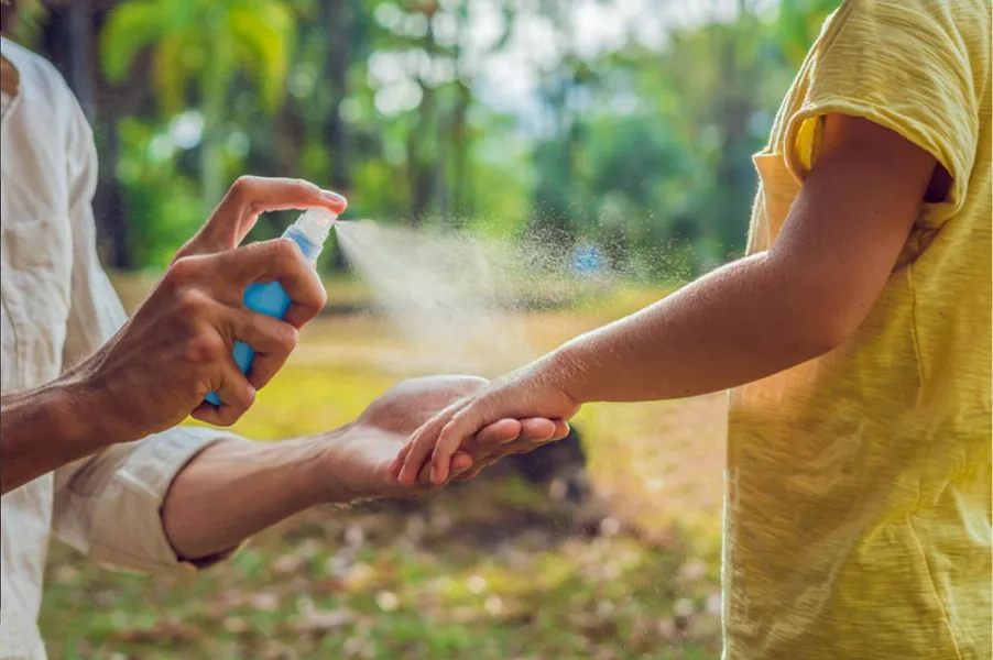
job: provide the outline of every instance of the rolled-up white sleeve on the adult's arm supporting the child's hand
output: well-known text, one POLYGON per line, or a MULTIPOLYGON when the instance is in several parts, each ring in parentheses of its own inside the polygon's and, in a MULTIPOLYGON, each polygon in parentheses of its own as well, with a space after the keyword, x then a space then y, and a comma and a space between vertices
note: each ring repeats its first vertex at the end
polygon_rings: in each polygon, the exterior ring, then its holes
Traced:
MULTIPOLYGON (((86 360, 128 320, 97 256, 91 204, 97 154, 89 123, 75 99, 72 124, 67 180, 73 284, 63 369, 86 360)), ((192 564, 179 561, 165 536, 162 505, 189 460, 215 442, 236 438, 212 429, 179 427, 61 468, 55 473, 55 535, 113 566, 152 573, 192 570, 192 564)), ((198 565, 205 563, 209 562, 198 565)))

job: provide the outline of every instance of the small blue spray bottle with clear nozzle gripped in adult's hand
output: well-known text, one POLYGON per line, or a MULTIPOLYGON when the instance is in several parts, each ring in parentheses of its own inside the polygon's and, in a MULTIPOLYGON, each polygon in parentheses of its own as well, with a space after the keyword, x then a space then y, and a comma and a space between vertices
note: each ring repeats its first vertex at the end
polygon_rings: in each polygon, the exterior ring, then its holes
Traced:
MULTIPOLYGON (((304 253, 304 257, 310 264, 316 264, 317 257, 324 249, 324 242, 330 235, 337 219, 338 216, 327 209, 309 209, 297 218, 296 222, 286 228, 283 238, 296 243, 304 253)), ((244 289, 245 307, 276 319, 282 319, 286 315, 290 302, 292 302, 290 296, 286 295, 279 282, 250 284, 244 289)), ((231 351, 231 354, 241 373, 247 374, 252 365, 255 351, 247 343, 238 341, 234 342, 234 350, 231 351)), ((205 398, 215 406, 221 405, 216 392, 209 393, 205 398)))

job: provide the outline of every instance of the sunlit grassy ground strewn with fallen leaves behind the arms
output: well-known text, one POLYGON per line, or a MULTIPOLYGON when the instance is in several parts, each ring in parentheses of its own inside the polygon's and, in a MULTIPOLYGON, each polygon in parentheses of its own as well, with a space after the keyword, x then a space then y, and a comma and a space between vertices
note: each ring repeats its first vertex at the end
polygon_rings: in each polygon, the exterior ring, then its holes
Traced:
MULTIPOLYGON (((351 285, 332 283, 331 299, 360 298, 339 286, 351 285)), ((624 290, 524 320, 547 350, 658 295, 624 290)), ((236 430, 277 440, 347 422, 429 370, 412 351, 371 317, 320 319, 236 430)), ((50 656, 717 658, 722 406, 583 410, 597 497, 578 509, 504 468, 406 507, 308 512, 199 575, 114 573, 53 546, 41 616, 50 656), (588 534, 591 520, 605 534, 588 534)))

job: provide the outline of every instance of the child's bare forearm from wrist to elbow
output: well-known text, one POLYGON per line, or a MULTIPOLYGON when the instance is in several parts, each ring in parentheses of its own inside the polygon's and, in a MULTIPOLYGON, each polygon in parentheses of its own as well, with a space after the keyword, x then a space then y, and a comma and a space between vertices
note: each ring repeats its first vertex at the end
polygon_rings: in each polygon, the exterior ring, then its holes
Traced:
POLYGON ((546 361, 549 377, 580 404, 661 400, 736 387, 827 352, 843 330, 773 258, 729 264, 570 341, 546 361))

